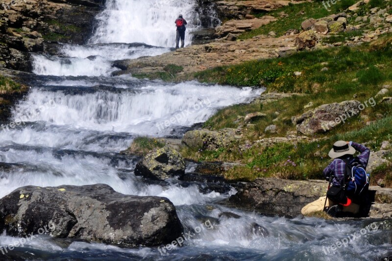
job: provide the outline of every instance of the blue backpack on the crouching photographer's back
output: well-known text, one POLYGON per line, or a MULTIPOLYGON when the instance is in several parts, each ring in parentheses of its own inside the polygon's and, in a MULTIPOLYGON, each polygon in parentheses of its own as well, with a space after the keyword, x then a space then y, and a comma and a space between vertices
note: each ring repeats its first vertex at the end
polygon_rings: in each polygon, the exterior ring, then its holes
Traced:
POLYGON ((358 158, 342 160, 346 164, 346 194, 351 199, 359 198, 368 191, 370 175, 358 158))

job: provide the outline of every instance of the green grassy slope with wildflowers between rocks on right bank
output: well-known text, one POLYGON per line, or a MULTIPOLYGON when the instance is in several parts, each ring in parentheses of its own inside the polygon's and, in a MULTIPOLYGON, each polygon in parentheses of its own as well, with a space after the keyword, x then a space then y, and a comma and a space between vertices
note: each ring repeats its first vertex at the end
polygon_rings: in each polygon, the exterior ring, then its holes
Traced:
MULTIPOLYGON (((343 1, 342 1, 343 2, 343 1)), ((371 1, 370 4, 374 4, 371 1)), ((383 3, 381 3, 383 4, 383 3)), ((332 14, 324 14, 319 9, 320 3, 303 3, 285 7, 293 8, 291 16, 279 20, 275 24, 257 29, 242 36, 251 37, 270 30, 278 35, 294 25, 300 25, 305 18, 297 19, 296 10, 304 8, 309 17, 319 18, 332 14), (320 13, 318 13, 320 11, 320 13), (290 26, 289 26, 290 25, 290 26), (287 27, 289 26, 289 27, 287 27), (287 27, 287 28, 286 28, 287 27), (279 31, 279 29, 281 29, 279 31), (264 31, 263 31, 264 30, 264 31)), ((371 6, 366 6, 370 8, 371 6)), ((324 9, 325 10, 325 9, 324 9)), ((279 13, 282 10, 276 10, 279 13)), ((307 18, 309 18, 307 17, 307 18)), ((299 26, 298 25, 298 26, 299 26)), ((342 33, 339 37, 351 36, 352 33, 342 33)), ((339 39, 337 39, 339 40, 339 39)), ((266 86, 269 91, 296 92, 308 94, 294 96, 277 102, 260 106, 257 104, 234 105, 220 110, 205 123, 205 127, 217 130, 224 127, 236 128, 239 123, 234 121, 237 116, 262 111, 267 117, 245 126, 243 144, 258 140, 260 136, 286 136, 287 131, 295 130, 291 117, 305 112, 303 106, 312 101, 313 107, 325 103, 340 102, 356 99, 364 102, 374 97, 382 85, 392 84, 392 35, 385 35, 379 40, 359 47, 335 47, 299 52, 294 55, 251 61, 236 66, 219 67, 196 73, 195 77, 202 82, 214 82, 235 86, 266 86), (321 71, 327 68, 328 71, 321 71), (300 71, 300 76, 294 76, 294 71, 300 71), (276 116, 276 112, 279 116, 276 116), (278 121, 272 121, 275 118, 278 121), (278 134, 263 134, 264 128, 276 124, 278 134)), ((241 150, 238 145, 230 148, 220 148, 216 151, 202 151, 200 149, 183 148, 185 157, 194 160, 239 161, 246 166, 237 167, 226 173, 226 177, 236 180, 253 180, 257 177, 278 176, 290 179, 321 178, 322 169, 330 162, 328 151, 336 140, 354 140, 368 142, 372 149, 379 148, 382 141, 391 141, 390 125, 392 123, 392 106, 379 103, 376 98, 374 107, 366 108, 362 115, 367 118, 356 117, 340 127, 326 134, 315 135, 315 138, 325 138, 319 142, 293 144, 276 144, 271 147, 253 146, 248 150, 241 150), (366 121, 376 120, 375 124, 366 126, 366 121)), ((392 175, 390 166, 380 166, 374 171, 375 177, 385 176, 386 183, 391 185, 392 175)), ((373 177, 373 183, 375 178, 373 177)))

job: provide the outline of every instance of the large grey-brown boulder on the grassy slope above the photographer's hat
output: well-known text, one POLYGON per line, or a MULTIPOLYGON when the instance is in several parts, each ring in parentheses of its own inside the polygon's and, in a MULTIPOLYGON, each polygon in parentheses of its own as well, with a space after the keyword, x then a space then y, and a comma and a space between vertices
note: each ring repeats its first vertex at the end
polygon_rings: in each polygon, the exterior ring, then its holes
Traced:
POLYGON ((297 131, 305 135, 323 133, 342 124, 345 120, 359 115, 361 102, 346 100, 341 103, 323 104, 301 116, 293 117, 297 131))

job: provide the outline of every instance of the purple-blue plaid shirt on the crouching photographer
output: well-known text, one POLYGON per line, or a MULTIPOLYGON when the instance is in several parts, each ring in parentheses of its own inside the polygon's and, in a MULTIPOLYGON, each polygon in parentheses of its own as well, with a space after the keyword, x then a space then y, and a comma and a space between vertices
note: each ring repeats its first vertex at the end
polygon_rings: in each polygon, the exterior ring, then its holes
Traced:
MULTIPOLYGON (((366 168, 368 166, 368 160, 370 157, 370 149, 365 147, 364 145, 355 143, 355 142, 350 142, 350 145, 353 146, 357 151, 361 153, 361 155, 358 156, 360 162, 363 164, 363 166, 366 168)), ((334 159, 331 164, 329 164, 322 174, 324 175, 326 180, 329 180, 329 177, 331 175, 334 175, 335 177, 332 180, 332 185, 340 187, 342 186, 342 179, 345 176, 345 167, 346 164, 343 160, 341 159, 334 159)))

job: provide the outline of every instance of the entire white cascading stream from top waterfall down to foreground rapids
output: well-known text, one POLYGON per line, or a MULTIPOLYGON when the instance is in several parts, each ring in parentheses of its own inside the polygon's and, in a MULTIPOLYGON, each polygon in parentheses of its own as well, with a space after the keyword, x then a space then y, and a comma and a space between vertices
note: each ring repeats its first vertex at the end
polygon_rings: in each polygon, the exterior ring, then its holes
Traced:
MULTIPOLYGON (((206 220, 185 246, 119 248, 37 237, 16 248, 16 260, 368 260, 391 249, 391 235, 373 231, 332 253, 325 248, 358 233, 365 222, 266 217, 216 204, 235 193, 205 191, 204 183, 149 185, 132 173, 136 157, 118 152, 134 137, 177 136, 217 109, 248 102, 262 90, 167 84, 111 77, 112 61, 158 55, 174 46, 179 13, 196 28, 194 0, 107 0, 88 45, 64 45, 57 56, 34 55, 32 90, 14 109, 15 128, 0 129, 0 197, 26 185, 105 183, 124 194, 168 197, 185 231, 206 220), (133 44, 140 42, 141 44, 133 44), (120 44, 119 44, 120 43, 120 44), (152 45, 152 46, 148 46, 152 45), (170 119, 175 119, 174 123, 170 119), (167 122, 171 122, 167 125, 167 122), (163 254, 163 255, 161 255, 163 254)), ((190 43, 190 36, 187 44, 190 43)), ((187 171, 192 171, 189 163, 187 171)), ((15 241, 0 236, 0 245, 15 241)))

